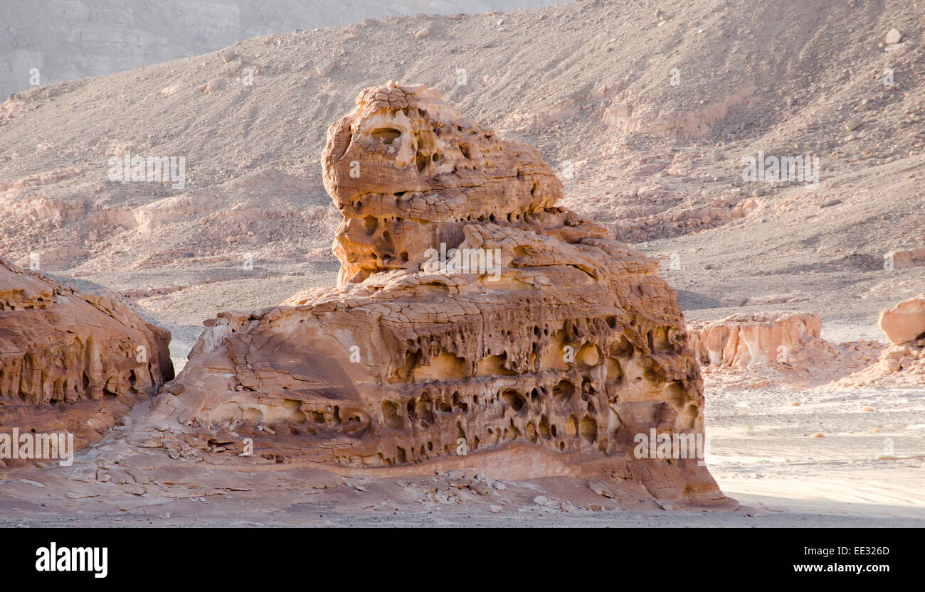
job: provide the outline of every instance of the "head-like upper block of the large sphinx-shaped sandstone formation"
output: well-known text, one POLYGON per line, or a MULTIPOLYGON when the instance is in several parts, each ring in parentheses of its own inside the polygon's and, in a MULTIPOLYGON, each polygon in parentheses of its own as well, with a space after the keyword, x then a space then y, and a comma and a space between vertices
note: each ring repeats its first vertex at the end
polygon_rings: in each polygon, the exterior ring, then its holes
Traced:
POLYGON ((340 282, 418 271, 428 248, 460 245, 466 226, 527 229, 561 198, 536 149, 499 139, 423 86, 364 91, 328 128, 322 160, 344 215, 340 282))

